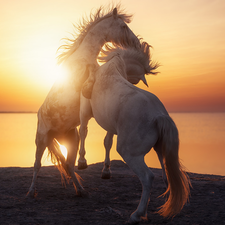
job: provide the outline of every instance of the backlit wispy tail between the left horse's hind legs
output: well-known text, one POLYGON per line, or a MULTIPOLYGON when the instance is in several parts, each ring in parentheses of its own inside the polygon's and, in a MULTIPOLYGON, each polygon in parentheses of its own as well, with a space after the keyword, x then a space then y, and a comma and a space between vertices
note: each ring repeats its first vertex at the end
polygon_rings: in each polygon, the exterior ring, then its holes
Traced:
POLYGON ((48 155, 51 157, 51 162, 57 166, 60 174, 61 174, 61 180, 62 183, 65 185, 65 180, 68 181, 68 171, 65 170, 66 167, 66 159, 63 156, 60 145, 56 139, 53 139, 53 141, 48 146, 48 155))

